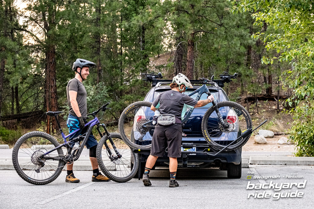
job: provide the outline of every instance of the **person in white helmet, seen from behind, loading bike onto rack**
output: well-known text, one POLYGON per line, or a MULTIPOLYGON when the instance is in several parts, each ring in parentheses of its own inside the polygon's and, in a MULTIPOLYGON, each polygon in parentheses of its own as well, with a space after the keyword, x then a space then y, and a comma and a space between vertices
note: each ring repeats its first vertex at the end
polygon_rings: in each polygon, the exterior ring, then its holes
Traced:
POLYGON ((152 185, 149 180, 149 171, 155 165, 158 157, 164 156, 165 149, 168 147, 170 182, 169 187, 179 186, 176 181, 176 170, 178 167, 177 158, 181 156, 182 141, 182 122, 187 107, 203 107, 209 102, 214 101, 214 96, 210 95, 205 100, 196 101, 186 94, 182 94, 188 87, 192 87, 189 79, 179 73, 173 77, 170 84, 171 90, 165 91, 154 100, 151 110, 159 109, 160 114, 172 114, 176 116, 176 124, 170 126, 156 125, 150 155, 146 161, 143 174, 143 183, 145 186, 152 185))

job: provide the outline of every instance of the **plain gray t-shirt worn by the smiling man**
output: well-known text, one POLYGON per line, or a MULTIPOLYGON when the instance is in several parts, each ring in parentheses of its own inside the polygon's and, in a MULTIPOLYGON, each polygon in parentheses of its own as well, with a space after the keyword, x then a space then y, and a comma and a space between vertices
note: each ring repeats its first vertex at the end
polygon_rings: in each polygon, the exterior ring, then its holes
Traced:
POLYGON ((76 78, 73 78, 68 82, 68 86, 67 86, 67 97, 68 97, 68 104, 70 107, 69 113, 71 115, 77 116, 71 107, 69 91, 78 92, 76 95, 76 101, 78 102, 78 109, 79 109, 79 112, 81 112, 82 117, 86 119, 87 117, 87 102, 86 102, 87 92, 83 83, 77 80, 76 78))

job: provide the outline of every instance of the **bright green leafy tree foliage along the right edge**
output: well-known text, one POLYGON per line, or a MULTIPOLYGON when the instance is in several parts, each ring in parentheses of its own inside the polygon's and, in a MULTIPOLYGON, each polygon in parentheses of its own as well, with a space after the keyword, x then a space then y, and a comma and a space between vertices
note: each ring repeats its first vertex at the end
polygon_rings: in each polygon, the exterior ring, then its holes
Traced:
MULTIPOLYGON (((256 25, 267 23, 277 33, 255 33, 253 38, 264 40, 267 50, 275 50, 277 56, 264 56, 262 63, 273 65, 274 61, 288 62, 282 79, 294 89, 287 102, 295 118, 291 128, 291 139, 297 144, 298 156, 314 156, 313 107, 304 102, 305 96, 314 96, 314 28, 312 25, 313 1, 294 0, 244 0, 232 1, 235 12, 249 11, 256 25), (311 115, 312 114, 312 115, 311 115)), ((312 102, 309 101, 310 103, 312 102)))

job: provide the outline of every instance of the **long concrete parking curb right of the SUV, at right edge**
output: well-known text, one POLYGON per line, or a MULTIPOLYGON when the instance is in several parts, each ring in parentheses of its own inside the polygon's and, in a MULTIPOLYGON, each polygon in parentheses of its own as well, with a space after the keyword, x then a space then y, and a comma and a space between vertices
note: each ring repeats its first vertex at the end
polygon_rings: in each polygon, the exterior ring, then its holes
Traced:
POLYGON ((314 165, 314 157, 251 156, 250 164, 258 165, 314 165))

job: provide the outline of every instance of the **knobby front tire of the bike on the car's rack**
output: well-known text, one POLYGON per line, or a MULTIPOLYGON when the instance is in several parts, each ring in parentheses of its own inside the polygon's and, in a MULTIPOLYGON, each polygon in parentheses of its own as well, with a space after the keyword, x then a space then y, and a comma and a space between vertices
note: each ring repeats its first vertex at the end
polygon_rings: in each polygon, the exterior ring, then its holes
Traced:
MULTIPOLYGON (((218 109, 221 108, 221 107, 233 107, 233 108, 238 109, 243 114, 244 120, 246 122, 246 129, 252 128, 252 119, 251 119, 250 114, 246 111, 245 107, 241 106, 240 104, 238 104, 236 102, 231 102, 231 101, 219 102, 216 105, 217 105, 218 109)), ((209 136, 210 134, 208 134, 209 132, 207 130, 207 127, 208 127, 208 117, 213 112, 215 112, 215 109, 214 109, 213 106, 208 108, 208 110, 205 112, 205 114, 203 116, 203 120, 202 120, 202 133, 203 133, 203 136, 204 136, 205 140, 208 142, 208 144, 213 145, 213 149, 221 150, 221 149, 223 149, 223 147, 217 146, 218 144, 215 143, 211 139, 211 137, 209 136)), ((244 130, 241 130, 241 131, 244 131, 244 130)), ((250 138, 250 135, 247 136, 246 138, 240 138, 240 139, 238 139, 238 141, 235 144, 230 145, 228 148, 229 149, 234 149, 234 150, 235 149, 239 149, 247 142, 247 140, 249 138, 250 138)), ((223 145, 223 146, 227 146, 227 144, 223 145)), ((228 151, 228 150, 226 149, 226 151, 228 151)))

